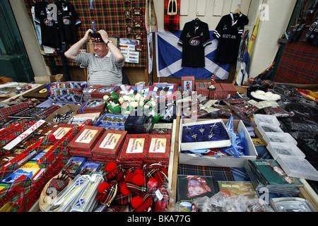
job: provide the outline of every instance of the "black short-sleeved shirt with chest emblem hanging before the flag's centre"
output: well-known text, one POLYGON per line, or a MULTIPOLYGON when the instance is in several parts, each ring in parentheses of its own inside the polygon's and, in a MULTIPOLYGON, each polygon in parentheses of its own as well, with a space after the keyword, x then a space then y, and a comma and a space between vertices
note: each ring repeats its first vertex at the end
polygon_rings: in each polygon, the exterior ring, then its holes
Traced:
POLYGON ((184 25, 178 44, 182 44, 182 66, 204 67, 204 47, 212 40, 208 24, 195 19, 184 25))

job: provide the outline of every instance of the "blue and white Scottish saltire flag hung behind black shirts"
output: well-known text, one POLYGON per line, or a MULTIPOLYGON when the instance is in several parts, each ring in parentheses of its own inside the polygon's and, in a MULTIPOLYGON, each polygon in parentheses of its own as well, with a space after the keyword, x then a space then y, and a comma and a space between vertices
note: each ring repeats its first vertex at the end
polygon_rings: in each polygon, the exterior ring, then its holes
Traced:
POLYGON ((204 53, 206 66, 200 68, 182 67, 182 45, 178 44, 182 30, 161 30, 156 32, 156 60, 158 77, 181 78, 182 76, 195 76, 196 79, 211 79, 215 73, 218 79, 228 79, 230 64, 217 64, 213 62, 218 47, 218 40, 214 39, 210 31, 212 43, 208 44, 204 53))

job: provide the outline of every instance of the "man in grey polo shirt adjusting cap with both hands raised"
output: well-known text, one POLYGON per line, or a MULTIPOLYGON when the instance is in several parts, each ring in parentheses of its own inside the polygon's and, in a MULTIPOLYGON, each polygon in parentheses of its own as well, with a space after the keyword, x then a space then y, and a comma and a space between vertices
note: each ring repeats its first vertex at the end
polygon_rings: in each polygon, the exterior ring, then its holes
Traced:
POLYGON ((73 44, 64 55, 82 68, 88 68, 89 85, 122 84, 124 55, 112 43, 105 30, 93 32, 88 29, 81 40, 73 44), (93 42, 94 53, 80 53, 83 44, 89 40, 93 42))

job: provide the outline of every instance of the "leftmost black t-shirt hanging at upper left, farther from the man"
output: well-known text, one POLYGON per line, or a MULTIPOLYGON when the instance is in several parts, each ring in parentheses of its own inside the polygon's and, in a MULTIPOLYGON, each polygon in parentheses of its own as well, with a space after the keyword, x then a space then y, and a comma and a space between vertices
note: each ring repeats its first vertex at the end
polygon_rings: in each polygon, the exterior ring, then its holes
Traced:
MULTIPOLYGON (((40 25, 42 45, 52 48, 59 48, 59 32, 57 20, 49 20, 48 4, 44 1, 35 3, 35 23, 40 25)), ((52 16, 54 18, 54 16, 52 16)))

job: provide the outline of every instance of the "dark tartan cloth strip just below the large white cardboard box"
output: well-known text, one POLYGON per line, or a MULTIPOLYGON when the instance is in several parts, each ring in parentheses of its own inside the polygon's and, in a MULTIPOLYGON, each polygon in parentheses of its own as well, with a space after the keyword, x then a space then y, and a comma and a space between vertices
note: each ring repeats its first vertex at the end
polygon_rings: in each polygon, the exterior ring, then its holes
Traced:
POLYGON ((215 177, 216 181, 234 181, 230 168, 228 167, 204 167, 199 165, 178 165, 177 174, 210 176, 215 177))

